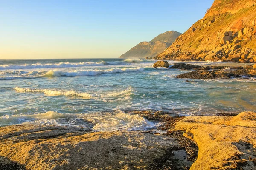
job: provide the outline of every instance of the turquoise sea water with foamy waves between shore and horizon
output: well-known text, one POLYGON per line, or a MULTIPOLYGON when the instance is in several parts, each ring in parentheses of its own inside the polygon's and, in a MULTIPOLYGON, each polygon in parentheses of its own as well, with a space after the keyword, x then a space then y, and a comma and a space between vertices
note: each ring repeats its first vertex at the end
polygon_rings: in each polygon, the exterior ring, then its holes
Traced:
MULTIPOLYGON (((0 126, 21 123, 147 130, 158 122, 123 109, 180 115, 256 111, 255 79, 176 79, 187 71, 155 69, 153 60, 0 60, 0 126)), ((174 61, 169 61, 172 65, 174 61)), ((188 62, 233 65, 222 62, 188 62)), ((241 64, 239 64, 241 65, 241 64)))

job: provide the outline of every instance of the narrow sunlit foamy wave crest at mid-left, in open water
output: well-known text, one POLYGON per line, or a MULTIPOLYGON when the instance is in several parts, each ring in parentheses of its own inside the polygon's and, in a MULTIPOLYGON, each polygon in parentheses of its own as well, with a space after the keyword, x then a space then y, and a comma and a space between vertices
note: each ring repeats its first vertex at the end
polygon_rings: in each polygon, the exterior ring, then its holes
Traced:
POLYGON ((57 90, 49 90, 49 89, 30 89, 30 88, 19 88, 19 87, 15 87, 14 90, 18 92, 44 93, 49 96, 77 96, 77 97, 83 97, 85 99, 92 98, 92 96, 88 93, 81 93, 76 91, 57 91, 57 90))

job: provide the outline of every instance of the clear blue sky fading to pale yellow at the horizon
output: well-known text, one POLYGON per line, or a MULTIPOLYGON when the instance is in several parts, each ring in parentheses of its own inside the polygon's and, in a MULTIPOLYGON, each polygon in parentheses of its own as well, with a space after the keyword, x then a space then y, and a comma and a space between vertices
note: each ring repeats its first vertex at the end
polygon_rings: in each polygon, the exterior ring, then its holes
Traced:
POLYGON ((0 0, 0 59, 117 58, 184 33, 213 0, 0 0))

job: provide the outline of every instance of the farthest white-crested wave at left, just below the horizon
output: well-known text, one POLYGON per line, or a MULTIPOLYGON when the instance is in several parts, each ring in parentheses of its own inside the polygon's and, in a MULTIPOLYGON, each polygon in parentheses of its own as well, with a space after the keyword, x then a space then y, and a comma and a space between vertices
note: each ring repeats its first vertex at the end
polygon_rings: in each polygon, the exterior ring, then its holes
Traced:
POLYGON ((32 68, 69 68, 69 67, 85 67, 85 66, 102 66, 108 65, 108 62, 79 62, 79 63, 70 63, 70 62, 59 62, 55 64, 23 64, 23 65, 0 65, 0 70, 9 70, 9 69, 32 69, 32 68))

